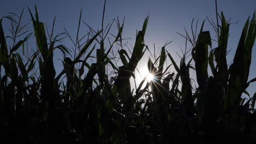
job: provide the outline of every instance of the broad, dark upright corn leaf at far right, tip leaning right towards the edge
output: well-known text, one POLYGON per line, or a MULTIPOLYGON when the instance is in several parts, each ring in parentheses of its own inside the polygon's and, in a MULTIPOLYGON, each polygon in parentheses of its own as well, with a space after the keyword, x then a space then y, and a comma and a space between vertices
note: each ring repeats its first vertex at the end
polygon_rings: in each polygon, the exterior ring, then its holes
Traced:
POLYGON ((253 14, 251 22, 249 18, 239 40, 237 50, 230 71, 230 79, 228 85, 228 97, 225 101, 225 108, 237 104, 242 92, 247 87, 249 76, 249 68, 252 58, 252 47, 256 37, 256 17, 253 14))

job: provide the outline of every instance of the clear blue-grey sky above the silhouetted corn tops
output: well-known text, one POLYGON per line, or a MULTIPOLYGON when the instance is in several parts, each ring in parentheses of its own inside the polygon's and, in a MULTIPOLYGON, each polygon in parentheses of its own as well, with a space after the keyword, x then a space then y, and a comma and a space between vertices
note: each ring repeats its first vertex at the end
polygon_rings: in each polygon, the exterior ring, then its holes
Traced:
MULTIPOLYGON (((54 16, 56 16, 56 33, 63 32, 65 27, 73 37, 77 31, 80 9, 83 9, 82 20, 88 23, 92 28, 101 28, 101 17, 103 11, 103 0, 5 0, 1 2, 0 17, 7 13, 20 13, 22 8, 25 9, 24 19, 30 20, 27 7, 34 10, 37 5, 39 20, 45 22, 48 28, 51 27, 54 16)), ((230 37, 228 50, 228 62, 232 61, 238 40, 240 38, 242 28, 248 18, 252 16, 256 9, 255 0, 219 0, 218 10, 223 11, 226 19, 231 18, 230 37), (236 23, 238 21, 238 23, 236 23)), ((106 13, 104 25, 116 18, 123 19, 125 16, 124 38, 135 38, 136 29, 142 28, 145 17, 149 14, 149 23, 145 37, 145 43, 152 50, 153 44, 156 48, 163 46, 166 41, 174 40, 166 49, 173 53, 172 55, 179 61, 177 53, 181 53, 181 49, 185 47, 185 40, 176 32, 184 34, 184 28, 190 29, 193 18, 199 19, 199 27, 202 20, 208 16, 210 19, 216 20, 215 1, 214 0, 108 0, 106 4, 106 13)), ((32 23, 30 23, 32 25, 32 23)), ((4 23, 4 26, 8 26, 4 23)), ((82 24, 86 29, 86 26, 82 24)), ((30 26, 31 30, 32 26, 30 26)), ((115 26, 114 26, 115 28, 115 26)), ((211 31, 211 37, 214 38, 215 33, 210 25, 206 22, 205 29, 211 31)), ((82 28, 83 31, 83 28, 82 28)), ((83 33, 81 31, 81 33, 83 33)), ((81 34, 82 35, 82 34, 81 34)), ((133 45, 131 40, 129 43, 133 45)), ((68 44, 67 44, 68 45, 68 44)), ((213 48, 216 47, 213 45, 213 48)), ((139 67, 145 67, 148 56, 144 56, 139 67), (143 64, 144 65, 143 65, 143 64)), ((56 65, 56 71, 62 66, 56 65)), ((251 71, 249 80, 256 77, 256 46, 253 47, 251 71)), ((252 95, 256 92, 256 83, 248 88, 252 95)))

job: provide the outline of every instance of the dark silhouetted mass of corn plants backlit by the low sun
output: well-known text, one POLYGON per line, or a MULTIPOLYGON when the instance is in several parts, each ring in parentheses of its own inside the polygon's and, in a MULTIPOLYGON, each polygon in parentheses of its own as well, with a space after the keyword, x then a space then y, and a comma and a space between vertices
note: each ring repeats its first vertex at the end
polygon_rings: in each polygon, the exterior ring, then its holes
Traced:
POLYGON ((213 25, 216 48, 212 48, 203 22, 199 34, 193 29, 192 37, 186 34, 186 45, 189 41, 192 48, 183 53, 180 63, 165 49, 166 44, 147 63, 154 80, 145 78, 137 87, 130 80, 135 79, 137 64, 149 49, 144 44, 148 17, 129 54, 123 48, 124 22, 117 20, 113 39, 108 35, 115 21, 103 28, 103 19, 101 31, 88 26, 90 32, 79 39, 81 11, 73 40, 67 31, 54 35, 55 20, 49 33, 39 21, 37 9, 35 14, 28 11, 33 24, 30 34, 21 22, 23 11, 0 19, 1 143, 255 142, 256 94, 242 97, 256 81, 248 80, 255 13, 243 27, 230 65, 226 60, 230 23, 221 13, 220 25, 213 25), (9 37, 2 26, 8 19, 9 37), (33 36, 37 50, 26 53, 26 43, 33 36), (62 44, 68 38, 74 44, 73 52, 62 44), (112 49, 115 45, 118 50, 112 49), (56 75, 53 58, 57 49, 63 54, 63 69, 56 75), (174 67, 173 73, 170 67, 174 67), (196 72, 196 88, 190 70, 196 72))

